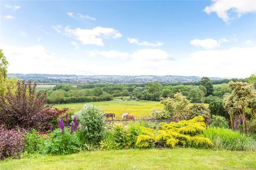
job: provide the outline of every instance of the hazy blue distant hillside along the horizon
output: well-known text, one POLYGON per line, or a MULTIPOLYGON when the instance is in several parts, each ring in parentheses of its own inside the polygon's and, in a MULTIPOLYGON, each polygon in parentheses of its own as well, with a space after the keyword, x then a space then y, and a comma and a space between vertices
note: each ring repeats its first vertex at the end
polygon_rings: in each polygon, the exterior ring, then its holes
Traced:
MULTIPOLYGON (((178 76, 178 75, 60 75, 60 74, 8 74, 9 77, 16 77, 22 80, 32 80, 38 83, 145 83, 158 81, 170 82, 197 82, 202 77, 178 76)), ((220 80, 223 78, 210 78, 220 80)))

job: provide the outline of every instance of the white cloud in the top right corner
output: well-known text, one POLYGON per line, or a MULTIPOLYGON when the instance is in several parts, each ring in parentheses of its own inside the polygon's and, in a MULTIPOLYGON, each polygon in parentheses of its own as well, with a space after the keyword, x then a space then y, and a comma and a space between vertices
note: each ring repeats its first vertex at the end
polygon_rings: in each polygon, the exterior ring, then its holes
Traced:
POLYGON ((256 12, 255 0, 212 0, 210 6, 206 6, 204 11, 207 14, 215 12, 219 18, 228 22, 238 18, 243 14, 256 12))

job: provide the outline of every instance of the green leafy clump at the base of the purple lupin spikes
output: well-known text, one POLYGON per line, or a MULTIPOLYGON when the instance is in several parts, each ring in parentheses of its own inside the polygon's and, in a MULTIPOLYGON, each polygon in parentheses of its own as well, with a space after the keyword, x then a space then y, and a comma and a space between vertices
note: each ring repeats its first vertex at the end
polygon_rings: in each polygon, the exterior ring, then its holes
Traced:
POLYGON ((44 142, 45 154, 72 154, 78 152, 80 147, 76 133, 70 134, 68 128, 65 128, 64 134, 60 129, 54 130, 44 142))

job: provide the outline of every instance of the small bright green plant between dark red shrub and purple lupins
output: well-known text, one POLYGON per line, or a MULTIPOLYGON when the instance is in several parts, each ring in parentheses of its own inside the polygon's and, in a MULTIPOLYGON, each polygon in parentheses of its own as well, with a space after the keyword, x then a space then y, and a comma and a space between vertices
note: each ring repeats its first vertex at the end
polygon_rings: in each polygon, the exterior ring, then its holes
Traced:
POLYGON ((28 154, 42 154, 44 150, 44 140, 47 134, 39 134, 38 131, 32 130, 26 134, 24 149, 28 154))

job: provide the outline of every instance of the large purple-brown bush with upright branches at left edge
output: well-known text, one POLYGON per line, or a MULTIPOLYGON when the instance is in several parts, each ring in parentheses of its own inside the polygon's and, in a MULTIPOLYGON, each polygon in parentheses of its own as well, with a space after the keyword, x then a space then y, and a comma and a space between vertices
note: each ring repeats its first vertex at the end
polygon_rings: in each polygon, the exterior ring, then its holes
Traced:
POLYGON ((57 112, 46 105, 45 94, 36 93, 35 88, 36 84, 31 84, 31 81, 18 81, 15 94, 9 90, 5 96, 0 96, 0 123, 5 128, 49 128, 49 122, 57 112))

